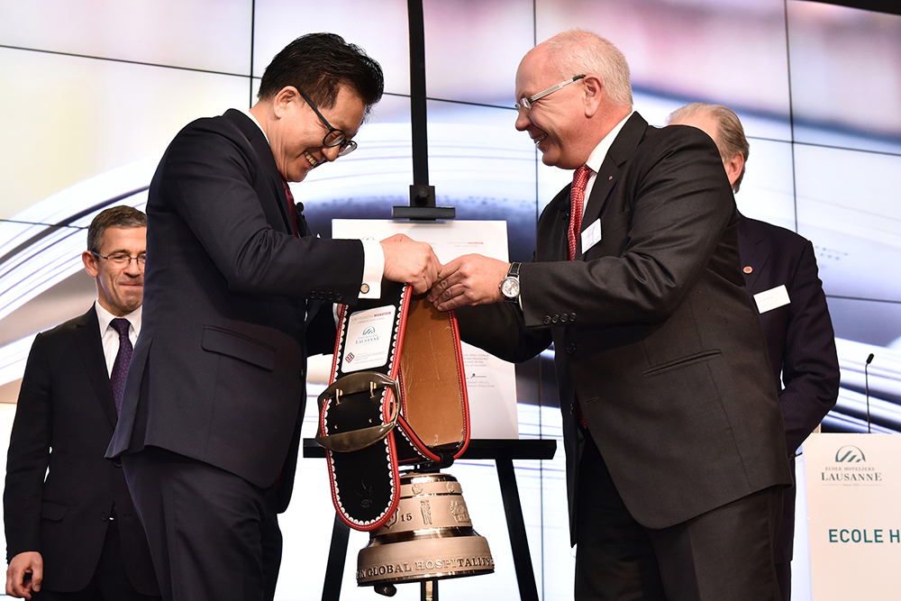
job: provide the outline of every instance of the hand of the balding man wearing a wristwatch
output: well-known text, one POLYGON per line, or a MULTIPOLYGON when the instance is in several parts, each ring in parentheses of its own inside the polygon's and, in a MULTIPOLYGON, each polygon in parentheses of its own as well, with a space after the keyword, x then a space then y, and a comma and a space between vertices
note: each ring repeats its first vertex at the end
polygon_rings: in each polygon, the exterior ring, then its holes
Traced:
POLYGON ((440 311, 504 300, 498 287, 510 263, 482 255, 463 255, 441 268, 429 291, 429 302, 440 311))

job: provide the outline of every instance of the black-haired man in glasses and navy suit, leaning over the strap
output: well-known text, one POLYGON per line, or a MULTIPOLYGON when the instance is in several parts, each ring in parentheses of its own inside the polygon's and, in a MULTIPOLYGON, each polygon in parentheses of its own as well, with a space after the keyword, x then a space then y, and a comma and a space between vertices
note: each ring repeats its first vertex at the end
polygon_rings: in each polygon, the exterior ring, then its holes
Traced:
POLYGON ((125 478, 167 600, 275 595, 277 513, 293 487, 305 363, 332 352, 332 303, 422 293, 440 266, 405 236, 327 240, 288 181, 356 148, 378 63, 330 33, 266 68, 250 112, 190 123, 148 196, 144 329, 107 455, 125 478))

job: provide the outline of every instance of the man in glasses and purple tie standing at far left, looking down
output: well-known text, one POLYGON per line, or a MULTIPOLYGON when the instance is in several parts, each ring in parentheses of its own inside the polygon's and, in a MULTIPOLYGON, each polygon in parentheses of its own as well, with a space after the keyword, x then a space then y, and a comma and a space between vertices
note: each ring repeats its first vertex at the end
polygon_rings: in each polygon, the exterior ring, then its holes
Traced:
POLYGON ((130 206, 97 214, 82 255, 96 303, 32 344, 6 460, 7 595, 159 599, 122 465, 104 459, 141 331, 146 223, 130 206))

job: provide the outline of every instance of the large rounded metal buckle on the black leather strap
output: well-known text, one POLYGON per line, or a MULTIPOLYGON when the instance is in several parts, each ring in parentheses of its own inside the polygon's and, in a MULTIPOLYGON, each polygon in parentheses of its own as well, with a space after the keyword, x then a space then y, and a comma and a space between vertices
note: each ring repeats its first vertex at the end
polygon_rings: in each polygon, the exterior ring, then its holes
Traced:
POLYGON ((322 420, 320 420, 319 432, 316 433, 315 441, 329 451, 346 453, 365 449, 385 438, 397 425, 397 416, 400 414, 400 388, 394 378, 378 371, 359 371, 334 382, 332 386, 323 390, 323 394, 318 398, 319 413, 322 414, 323 406, 330 398, 334 398, 335 405, 341 405, 342 396, 347 397, 344 399, 345 403, 359 402, 359 398, 354 399, 352 396, 369 392, 369 398, 375 398, 376 390, 379 388, 390 388, 393 393, 389 408, 391 416, 387 423, 350 432, 325 435, 322 430, 322 420))

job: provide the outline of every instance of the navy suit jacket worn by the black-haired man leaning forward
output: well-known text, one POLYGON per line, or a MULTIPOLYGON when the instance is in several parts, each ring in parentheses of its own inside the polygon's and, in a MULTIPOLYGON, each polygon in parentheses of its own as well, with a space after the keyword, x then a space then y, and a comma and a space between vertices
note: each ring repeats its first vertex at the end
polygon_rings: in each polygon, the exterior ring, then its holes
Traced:
POLYGON ((150 183, 141 336, 108 454, 153 445, 269 487, 293 484, 309 352, 355 303, 360 241, 296 238, 263 132, 239 111, 190 123, 150 183))

